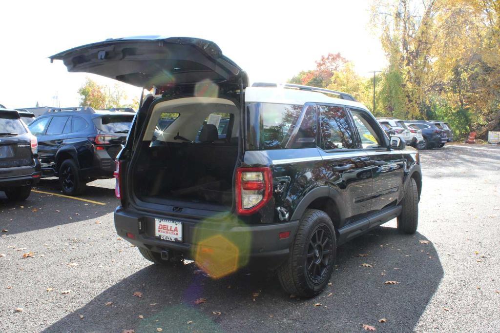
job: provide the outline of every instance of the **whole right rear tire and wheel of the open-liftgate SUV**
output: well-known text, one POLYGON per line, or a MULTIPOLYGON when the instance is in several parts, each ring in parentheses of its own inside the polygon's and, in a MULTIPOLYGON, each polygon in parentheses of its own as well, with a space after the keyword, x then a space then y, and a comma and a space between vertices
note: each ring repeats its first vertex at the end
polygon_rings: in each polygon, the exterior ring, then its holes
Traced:
POLYGON ((317 209, 306 210, 291 245, 290 255, 277 269, 281 287, 295 296, 318 295, 330 280, 335 254, 335 231, 329 216, 317 209))

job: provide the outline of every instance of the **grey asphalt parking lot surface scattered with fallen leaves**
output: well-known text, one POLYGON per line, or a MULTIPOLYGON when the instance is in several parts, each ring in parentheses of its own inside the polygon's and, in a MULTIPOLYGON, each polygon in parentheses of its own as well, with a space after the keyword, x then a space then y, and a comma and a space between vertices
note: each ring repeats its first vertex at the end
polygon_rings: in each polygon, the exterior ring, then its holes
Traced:
POLYGON ((271 273, 151 265, 114 231, 113 180, 81 200, 47 194, 56 179, 21 204, 1 193, 0 331, 498 332, 500 147, 446 145, 421 164, 417 233, 391 221, 342 245, 331 286, 308 300, 271 273))

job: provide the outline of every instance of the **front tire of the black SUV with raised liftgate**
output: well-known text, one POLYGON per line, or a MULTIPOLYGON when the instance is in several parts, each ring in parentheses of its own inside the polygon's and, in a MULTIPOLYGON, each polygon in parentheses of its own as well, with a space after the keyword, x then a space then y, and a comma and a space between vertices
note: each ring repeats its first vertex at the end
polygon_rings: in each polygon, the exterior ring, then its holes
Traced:
POLYGON ((401 214, 397 217, 397 230, 404 234, 414 234, 418 226, 418 189, 411 178, 404 192, 401 214))

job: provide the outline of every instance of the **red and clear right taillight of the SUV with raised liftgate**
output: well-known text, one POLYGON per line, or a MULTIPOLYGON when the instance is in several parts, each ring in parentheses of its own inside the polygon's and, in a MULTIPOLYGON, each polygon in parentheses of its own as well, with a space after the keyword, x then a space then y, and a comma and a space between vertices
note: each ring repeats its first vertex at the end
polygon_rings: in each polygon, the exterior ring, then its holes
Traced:
POLYGON ((271 198, 270 168, 238 168, 236 170, 236 209, 240 215, 253 214, 271 198))

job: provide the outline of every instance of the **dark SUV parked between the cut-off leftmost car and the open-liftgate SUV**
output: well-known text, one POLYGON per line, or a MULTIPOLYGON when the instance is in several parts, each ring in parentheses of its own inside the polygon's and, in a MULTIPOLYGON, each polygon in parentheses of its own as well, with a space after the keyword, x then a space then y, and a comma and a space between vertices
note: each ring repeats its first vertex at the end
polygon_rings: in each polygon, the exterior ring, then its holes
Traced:
POLYGON ((49 111, 29 124, 38 139, 43 176, 57 176, 67 195, 86 183, 112 178, 114 158, 126 140, 134 114, 90 107, 49 111))

